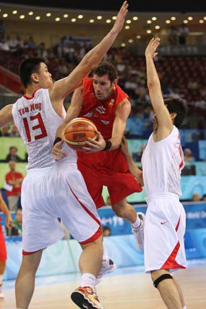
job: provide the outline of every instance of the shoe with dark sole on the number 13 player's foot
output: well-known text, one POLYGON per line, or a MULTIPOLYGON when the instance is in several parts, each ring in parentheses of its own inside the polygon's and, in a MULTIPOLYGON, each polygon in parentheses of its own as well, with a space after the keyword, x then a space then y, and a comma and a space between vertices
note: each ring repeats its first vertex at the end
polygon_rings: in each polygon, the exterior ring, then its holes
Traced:
POLYGON ((91 286, 79 286, 71 293, 71 299, 82 309, 104 309, 91 286))

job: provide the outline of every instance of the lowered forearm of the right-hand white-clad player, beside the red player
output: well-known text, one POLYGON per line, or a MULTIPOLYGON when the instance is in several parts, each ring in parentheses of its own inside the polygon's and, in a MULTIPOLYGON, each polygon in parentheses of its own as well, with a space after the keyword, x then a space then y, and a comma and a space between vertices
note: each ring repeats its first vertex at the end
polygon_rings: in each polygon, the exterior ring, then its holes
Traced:
POLYGON ((122 152, 124 153, 124 157, 126 158, 126 161, 128 163, 128 169, 133 176, 137 179, 138 183, 141 185, 141 187, 144 186, 143 181, 143 174, 139 168, 137 168, 137 165, 135 164, 135 161, 133 160, 133 157, 130 155, 130 152, 128 151, 128 143, 125 137, 122 138, 121 143, 122 152))

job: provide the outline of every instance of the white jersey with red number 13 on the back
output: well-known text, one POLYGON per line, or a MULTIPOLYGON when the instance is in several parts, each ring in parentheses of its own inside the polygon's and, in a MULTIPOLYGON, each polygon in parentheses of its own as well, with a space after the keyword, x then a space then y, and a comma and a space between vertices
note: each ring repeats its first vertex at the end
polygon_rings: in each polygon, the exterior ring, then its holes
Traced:
MULTIPOLYGON (((63 115, 66 111, 62 106, 63 115)), ((35 91, 32 98, 23 95, 13 104, 12 115, 16 127, 27 146, 28 165, 31 168, 45 168, 56 164, 52 148, 58 126, 62 123, 52 106, 48 89, 35 91)), ((66 160, 76 162, 76 151, 66 144, 62 148, 67 153, 66 160)), ((62 160, 65 160, 62 159, 62 160)))

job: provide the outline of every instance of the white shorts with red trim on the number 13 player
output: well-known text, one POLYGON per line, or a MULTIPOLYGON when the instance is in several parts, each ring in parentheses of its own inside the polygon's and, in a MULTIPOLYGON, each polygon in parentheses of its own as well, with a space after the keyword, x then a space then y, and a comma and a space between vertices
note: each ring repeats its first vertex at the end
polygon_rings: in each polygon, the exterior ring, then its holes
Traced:
POLYGON ((76 163, 57 162, 49 168, 27 171, 21 192, 23 253, 44 249, 64 233, 84 244, 100 237, 100 217, 76 163))

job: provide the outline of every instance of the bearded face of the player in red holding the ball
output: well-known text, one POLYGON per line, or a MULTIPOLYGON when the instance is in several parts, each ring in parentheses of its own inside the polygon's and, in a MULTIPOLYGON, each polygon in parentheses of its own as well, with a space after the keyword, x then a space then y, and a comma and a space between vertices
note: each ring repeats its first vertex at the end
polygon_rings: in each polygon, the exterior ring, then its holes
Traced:
POLYGON ((108 74, 101 77, 96 74, 93 75, 93 89, 98 100, 104 101, 108 99, 114 86, 115 83, 108 79, 108 74))

